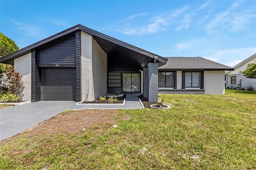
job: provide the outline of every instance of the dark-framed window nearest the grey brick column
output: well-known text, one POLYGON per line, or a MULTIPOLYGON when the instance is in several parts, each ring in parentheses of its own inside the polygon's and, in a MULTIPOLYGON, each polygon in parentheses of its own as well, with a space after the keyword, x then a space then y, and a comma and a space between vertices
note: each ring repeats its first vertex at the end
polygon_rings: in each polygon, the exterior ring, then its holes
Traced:
POLYGON ((173 72, 158 72, 158 87, 173 87, 173 72))

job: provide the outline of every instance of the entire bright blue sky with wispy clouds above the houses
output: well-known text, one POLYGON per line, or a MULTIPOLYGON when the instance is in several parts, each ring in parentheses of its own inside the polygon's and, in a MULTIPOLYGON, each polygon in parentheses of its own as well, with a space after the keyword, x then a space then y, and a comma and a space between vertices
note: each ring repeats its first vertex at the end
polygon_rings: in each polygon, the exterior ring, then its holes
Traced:
POLYGON ((234 66, 256 53, 256 1, 0 1, 0 31, 26 47, 77 24, 163 57, 234 66))

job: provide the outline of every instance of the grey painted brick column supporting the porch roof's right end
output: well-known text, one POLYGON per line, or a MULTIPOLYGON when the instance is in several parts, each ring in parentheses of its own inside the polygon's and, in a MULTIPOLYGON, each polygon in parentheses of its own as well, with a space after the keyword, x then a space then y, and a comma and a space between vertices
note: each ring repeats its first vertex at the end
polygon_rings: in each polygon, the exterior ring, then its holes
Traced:
POLYGON ((148 101, 158 101, 158 63, 148 63, 148 101))

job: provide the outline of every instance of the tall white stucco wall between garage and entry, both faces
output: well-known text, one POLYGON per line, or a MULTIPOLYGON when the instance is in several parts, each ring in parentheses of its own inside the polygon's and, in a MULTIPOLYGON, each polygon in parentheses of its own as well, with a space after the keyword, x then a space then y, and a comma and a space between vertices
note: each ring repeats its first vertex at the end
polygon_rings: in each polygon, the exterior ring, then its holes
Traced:
POLYGON ((107 93, 107 54, 92 36, 81 32, 81 99, 86 98, 86 81, 89 81, 88 101, 107 93), (96 95, 98 94, 98 95, 96 95), (96 95, 96 96, 95 96, 96 95))

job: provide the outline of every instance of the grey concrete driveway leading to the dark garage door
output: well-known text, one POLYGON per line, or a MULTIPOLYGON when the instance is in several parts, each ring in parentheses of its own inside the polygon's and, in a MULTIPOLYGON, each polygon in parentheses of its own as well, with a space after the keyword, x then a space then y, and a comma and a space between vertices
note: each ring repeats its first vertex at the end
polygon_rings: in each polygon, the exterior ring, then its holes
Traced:
POLYGON ((39 101, 0 110, 0 140, 75 106, 74 101, 39 101))

